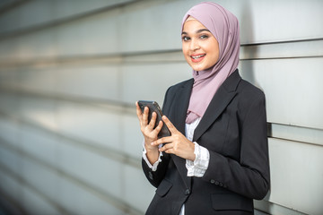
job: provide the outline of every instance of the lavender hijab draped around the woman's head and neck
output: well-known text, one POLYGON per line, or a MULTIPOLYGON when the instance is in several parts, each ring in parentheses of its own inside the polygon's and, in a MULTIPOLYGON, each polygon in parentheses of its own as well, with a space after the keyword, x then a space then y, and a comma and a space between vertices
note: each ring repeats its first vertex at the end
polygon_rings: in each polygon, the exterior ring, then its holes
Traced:
POLYGON ((211 31, 219 43, 219 59, 205 71, 193 71, 194 84, 188 105, 186 123, 190 124, 205 114, 216 90, 233 73, 239 64, 240 29, 238 19, 221 5, 204 2, 196 4, 185 14, 195 18, 211 31))

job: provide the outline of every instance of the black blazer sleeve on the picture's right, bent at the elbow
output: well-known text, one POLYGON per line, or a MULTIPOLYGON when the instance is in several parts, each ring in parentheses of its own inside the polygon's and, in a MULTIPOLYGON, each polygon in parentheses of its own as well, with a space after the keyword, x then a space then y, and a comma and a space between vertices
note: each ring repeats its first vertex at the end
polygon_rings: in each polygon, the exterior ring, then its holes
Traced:
POLYGON ((260 94, 244 109, 240 122, 240 160, 210 150, 203 179, 259 200, 266 196, 270 185, 265 95, 260 94))

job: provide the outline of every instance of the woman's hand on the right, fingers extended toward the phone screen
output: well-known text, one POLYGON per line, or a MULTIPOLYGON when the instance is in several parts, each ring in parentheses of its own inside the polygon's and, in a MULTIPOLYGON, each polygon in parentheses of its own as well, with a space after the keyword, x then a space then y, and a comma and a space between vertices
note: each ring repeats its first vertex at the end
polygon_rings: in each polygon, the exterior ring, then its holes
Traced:
POLYGON ((195 144, 193 142, 188 141, 188 138, 186 138, 182 133, 180 133, 174 125, 172 125, 168 117, 162 116, 162 121, 169 128, 171 135, 167 137, 162 137, 161 139, 152 142, 152 145, 157 146, 162 143, 167 143, 162 146, 160 151, 175 154, 183 159, 189 159, 192 161, 195 160, 195 144))

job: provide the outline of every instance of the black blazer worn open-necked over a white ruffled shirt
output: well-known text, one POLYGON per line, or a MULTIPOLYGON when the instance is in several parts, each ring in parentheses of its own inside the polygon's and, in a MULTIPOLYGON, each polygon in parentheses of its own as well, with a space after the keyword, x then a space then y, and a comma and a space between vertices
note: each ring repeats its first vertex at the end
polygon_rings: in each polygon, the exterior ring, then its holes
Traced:
MULTIPOLYGON (((166 92, 163 114, 185 133, 193 79, 166 92)), ((163 153, 156 171, 142 162, 144 174, 157 187, 146 214, 253 214, 253 199, 269 189, 265 96, 261 90, 231 74, 217 90, 197 125, 193 142, 210 152, 203 177, 187 176, 186 160, 163 153)))

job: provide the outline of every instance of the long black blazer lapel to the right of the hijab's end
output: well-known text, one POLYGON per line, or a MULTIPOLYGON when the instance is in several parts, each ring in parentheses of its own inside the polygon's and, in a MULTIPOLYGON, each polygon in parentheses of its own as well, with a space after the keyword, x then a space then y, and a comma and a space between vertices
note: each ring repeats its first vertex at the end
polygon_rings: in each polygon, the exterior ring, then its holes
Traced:
POLYGON ((193 141, 197 141, 203 133, 214 123, 216 118, 221 115, 225 107, 229 105, 231 99, 237 94, 236 89, 240 82, 240 74, 234 72, 225 80, 219 90, 216 91, 214 98, 205 111, 200 123, 194 132, 193 141))

